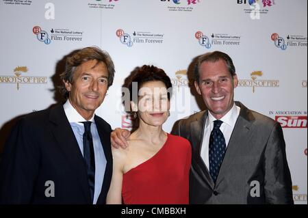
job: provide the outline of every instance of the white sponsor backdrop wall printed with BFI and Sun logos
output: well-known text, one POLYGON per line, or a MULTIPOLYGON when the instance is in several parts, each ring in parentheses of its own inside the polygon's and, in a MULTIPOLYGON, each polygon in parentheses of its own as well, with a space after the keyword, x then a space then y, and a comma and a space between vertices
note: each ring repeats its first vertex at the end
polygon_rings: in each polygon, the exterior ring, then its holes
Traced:
MULTIPOLYGON (((228 53, 235 100, 283 126, 294 201, 307 204, 306 0, 0 0, 0 138, 25 113, 61 102, 65 56, 99 46, 114 60, 114 85, 97 115, 131 127, 121 86, 136 67, 163 68, 174 86, 170 118, 204 109, 190 83, 198 55, 228 53)), ((2 148, 0 147, 0 151, 2 148)))

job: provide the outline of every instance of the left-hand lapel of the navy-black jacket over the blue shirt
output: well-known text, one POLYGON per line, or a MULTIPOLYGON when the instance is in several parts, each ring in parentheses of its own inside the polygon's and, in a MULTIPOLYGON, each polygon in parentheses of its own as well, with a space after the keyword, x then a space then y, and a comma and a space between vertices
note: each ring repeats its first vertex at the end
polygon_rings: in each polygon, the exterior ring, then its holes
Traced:
POLYGON ((88 204, 92 204, 84 157, 81 154, 74 132, 66 118, 62 105, 51 109, 49 120, 53 123, 53 125, 51 125, 51 131, 57 144, 64 152, 70 168, 75 172, 77 182, 79 182, 88 204))

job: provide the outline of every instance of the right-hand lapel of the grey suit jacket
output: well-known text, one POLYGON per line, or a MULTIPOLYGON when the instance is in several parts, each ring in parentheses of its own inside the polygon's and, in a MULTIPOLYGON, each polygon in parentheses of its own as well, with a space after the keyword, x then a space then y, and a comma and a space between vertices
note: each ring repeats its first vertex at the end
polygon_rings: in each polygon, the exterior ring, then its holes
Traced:
POLYGON ((242 103, 237 102, 236 105, 241 108, 240 115, 233 128, 227 151, 224 154, 216 185, 219 185, 219 182, 223 179, 223 175, 229 172, 229 168, 233 164, 233 160, 238 156, 239 151, 242 150, 243 146, 249 145, 251 137, 253 137, 254 126, 252 121, 255 120, 255 118, 251 111, 242 105, 242 103))

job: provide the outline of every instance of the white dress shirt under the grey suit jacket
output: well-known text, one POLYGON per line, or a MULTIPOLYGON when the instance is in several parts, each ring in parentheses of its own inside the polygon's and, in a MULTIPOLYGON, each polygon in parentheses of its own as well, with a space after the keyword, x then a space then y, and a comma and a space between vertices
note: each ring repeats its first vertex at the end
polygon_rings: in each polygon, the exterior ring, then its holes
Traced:
MULTIPOLYGON (((220 126, 220 131, 224 135, 224 140, 226 141, 226 148, 229 144, 230 137, 235 126, 236 120, 238 120, 238 115, 240 115, 240 107, 236 106, 235 103, 226 115, 224 115, 220 120, 223 122, 220 126)), ((217 120, 211 115, 207 116, 205 121, 205 131, 203 135, 202 147, 201 147, 201 158, 203 159, 207 169, 209 169, 209 136, 214 128, 214 121, 217 120)))

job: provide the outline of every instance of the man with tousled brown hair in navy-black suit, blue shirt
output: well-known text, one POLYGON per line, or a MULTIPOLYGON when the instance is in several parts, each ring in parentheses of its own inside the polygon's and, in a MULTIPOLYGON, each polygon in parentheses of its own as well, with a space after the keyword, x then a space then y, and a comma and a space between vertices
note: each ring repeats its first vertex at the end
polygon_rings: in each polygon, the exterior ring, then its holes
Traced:
POLYGON ((0 163, 0 204, 105 204, 112 177, 111 127, 94 115, 114 79, 97 47, 66 59, 64 105, 26 115, 0 163))

